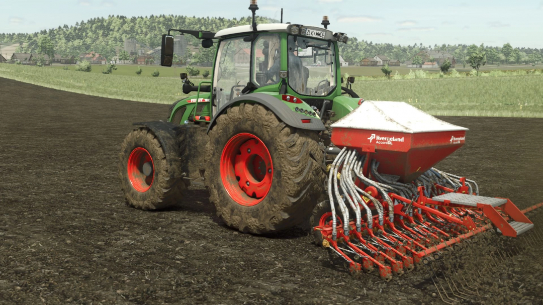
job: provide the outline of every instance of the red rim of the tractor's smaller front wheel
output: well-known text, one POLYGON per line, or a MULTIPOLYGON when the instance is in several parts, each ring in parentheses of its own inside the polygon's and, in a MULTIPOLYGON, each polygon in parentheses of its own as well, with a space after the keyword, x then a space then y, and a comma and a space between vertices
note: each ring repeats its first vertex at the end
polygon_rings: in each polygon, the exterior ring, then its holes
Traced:
POLYGON ((136 147, 128 157, 128 180, 138 192, 147 192, 155 177, 155 164, 147 149, 136 147), (147 174, 147 175, 146 175, 147 174))

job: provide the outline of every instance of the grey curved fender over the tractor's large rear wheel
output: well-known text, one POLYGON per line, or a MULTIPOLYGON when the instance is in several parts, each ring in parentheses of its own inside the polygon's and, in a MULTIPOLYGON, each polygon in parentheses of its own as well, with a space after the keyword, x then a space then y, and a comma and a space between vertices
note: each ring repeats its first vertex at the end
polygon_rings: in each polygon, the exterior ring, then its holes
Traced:
POLYGON ((233 104, 238 103, 239 101, 253 101, 257 104, 262 104, 266 106, 269 110, 273 111, 276 116, 278 116, 285 124, 292 126, 294 128, 299 129, 306 129, 306 130, 316 130, 316 131, 322 131, 325 130, 323 121, 321 121, 319 118, 314 118, 311 120, 311 123, 302 123, 302 119, 307 119, 308 117, 301 115, 300 113, 296 113, 290 109, 285 103, 283 103, 282 100, 277 99, 274 96, 270 96, 266 93, 250 93, 245 94, 244 96, 232 99, 228 103, 224 104, 220 109, 217 111, 217 113, 214 113, 213 118, 211 120, 211 123, 209 124, 209 127, 207 128, 207 132, 211 130, 213 125, 215 124, 215 120, 223 114, 226 109, 228 109, 233 104))

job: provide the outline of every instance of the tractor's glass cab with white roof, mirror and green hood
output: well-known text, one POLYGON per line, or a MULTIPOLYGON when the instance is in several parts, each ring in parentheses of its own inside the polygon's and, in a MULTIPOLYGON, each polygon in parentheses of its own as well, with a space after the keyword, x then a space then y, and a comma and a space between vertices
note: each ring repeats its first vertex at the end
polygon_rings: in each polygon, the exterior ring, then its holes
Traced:
POLYGON ((185 107, 184 103, 177 103, 171 109, 169 120, 175 124, 212 121, 224 106, 252 93, 269 94, 277 99, 275 103, 285 103, 294 112, 317 118, 321 118, 324 111, 346 114, 356 108, 358 99, 340 99, 337 101, 339 105, 333 106, 342 94, 358 97, 340 85, 338 43, 346 43, 348 37, 327 29, 330 24, 327 16, 321 22, 323 27, 291 23, 256 24, 254 16, 258 7, 253 2, 249 7, 253 12, 252 24, 217 33, 171 29, 168 35, 163 35, 162 66, 172 65, 174 47, 171 31, 194 35, 202 40, 203 47, 217 48, 211 81, 194 85, 186 74, 181 74, 183 92, 197 93, 188 98, 187 103, 194 100, 196 104, 209 104, 185 107), (291 96, 289 99, 292 100, 296 98, 301 107, 292 105, 290 100, 283 100, 283 96, 291 96), (180 107, 184 108, 176 112, 180 107), (198 112, 203 116, 198 116, 198 112))

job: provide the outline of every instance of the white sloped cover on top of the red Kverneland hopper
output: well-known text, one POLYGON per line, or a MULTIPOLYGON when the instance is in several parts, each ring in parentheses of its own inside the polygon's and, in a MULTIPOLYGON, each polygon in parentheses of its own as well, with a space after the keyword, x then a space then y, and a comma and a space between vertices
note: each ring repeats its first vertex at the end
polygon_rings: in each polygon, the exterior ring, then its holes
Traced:
POLYGON ((367 100, 348 115, 332 124, 332 128, 350 128, 403 132, 468 130, 437 119, 403 101, 367 100))

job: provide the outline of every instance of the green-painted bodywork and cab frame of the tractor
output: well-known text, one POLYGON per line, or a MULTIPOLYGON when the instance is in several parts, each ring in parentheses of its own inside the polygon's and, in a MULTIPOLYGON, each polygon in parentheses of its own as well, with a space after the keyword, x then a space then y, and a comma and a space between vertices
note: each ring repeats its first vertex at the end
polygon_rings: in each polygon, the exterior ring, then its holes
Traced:
MULTIPOLYGON (((246 36, 246 35, 247 34, 243 34, 243 35, 239 35, 239 36, 246 36)), ((288 71, 288 61, 287 61, 287 58, 288 58, 288 49, 287 49, 288 33, 279 33, 279 35, 281 37, 281 63, 280 63, 281 68, 280 68, 280 70, 281 71, 288 71)), ((231 37, 229 37, 229 38, 231 38, 231 37)), ((336 56, 335 56, 335 59, 336 59, 336 74, 333 75, 333 77, 336 78, 336 84, 337 84, 336 88, 332 92, 330 92, 330 94, 328 96, 324 96, 324 97, 304 96, 304 95, 301 95, 299 93, 296 93, 288 85, 288 78, 287 78, 285 80, 287 82, 286 94, 288 94, 290 96, 293 96, 293 97, 296 97, 296 98, 301 99, 301 100, 304 100, 304 99, 333 100, 332 111, 336 112, 336 115, 332 119, 333 120, 338 120, 338 119, 344 117, 345 115, 347 115, 349 112, 351 112, 356 107, 358 107, 358 99, 353 99, 353 98, 349 98, 349 97, 345 97, 345 96, 341 95, 342 90, 341 90, 341 69, 340 69, 340 64, 339 64, 339 48, 338 48, 337 42, 332 42, 332 46, 333 46, 334 51, 336 53, 336 56)), ((217 48, 217 52, 218 52, 218 48, 217 48)), ((215 53, 215 58, 213 60, 213 73, 211 74, 211 82, 213 82, 214 70, 216 68, 214 63, 217 61, 217 52, 215 53)), ((311 106, 308 105, 305 102, 300 103, 300 104, 295 104, 295 103, 289 103, 288 101, 283 101, 281 94, 279 94, 280 88, 281 88, 281 81, 279 82, 279 84, 260 87, 260 88, 257 88, 256 90, 252 91, 252 92, 270 94, 271 96, 276 97, 282 103, 285 103, 294 112, 296 112, 296 107, 298 107, 298 109, 307 110, 308 112, 313 112, 314 111, 311 108, 311 106)), ((194 102, 190 102, 190 100, 196 99, 197 97, 199 99, 209 99, 211 97, 211 93, 210 92, 203 92, 203 93, 199 93, 199 95, 196 94, 196 95, 190 96, 190 97, 188 97, 186 99, 182 99, 178 104, 175 105, 174 109, 172 110, 172 113, 170 113, 170 116, 169 116, 169 119, 168 119, 169 122, 172 121, 175 112, 178 111, 181 107, 187 107, 187 109, 185 110, 184 115, 182 116, 180 123, 183 124, 186 120, 188 120, 188 117, 190 117, 192 115, 192 113, 194 112, 194 106, 196 104, 194 102)), ((197 113, 197 115, 199 115, 199 116, 211 116, 211 103, 210 102, 199 102, 198 105, 200 105, 200 104, 203 104, 205 106, 204 106, 204 109, 201 112, 197 113)), ((309 114, 306 115, 304 112, 299 112, 299 113, 302 113, 304 116, 314 118, 314 116, 309 115, 309 114)))

